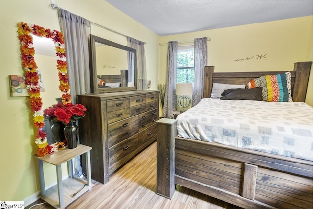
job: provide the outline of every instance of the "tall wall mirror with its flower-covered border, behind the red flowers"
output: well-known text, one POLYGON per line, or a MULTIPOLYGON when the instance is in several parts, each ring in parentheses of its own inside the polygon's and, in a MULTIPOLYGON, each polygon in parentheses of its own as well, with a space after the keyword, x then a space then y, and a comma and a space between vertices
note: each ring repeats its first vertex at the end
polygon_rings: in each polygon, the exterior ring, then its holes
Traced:
POLYGON ((17 26, 25 85, 34 126, 38 128, 35 139, 37 155, 45 156, 65 147, 62 139, 56 141, 51 138, 48 124, 51 121, 45 120, 43 113, 45 108, 57 103, 57 98, 63 104, 71 103, 64 37, 60 31, 38 25, 20 22, 17 26))

